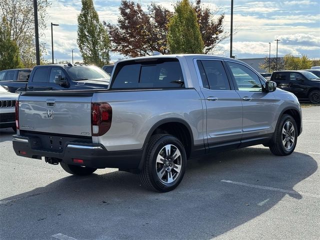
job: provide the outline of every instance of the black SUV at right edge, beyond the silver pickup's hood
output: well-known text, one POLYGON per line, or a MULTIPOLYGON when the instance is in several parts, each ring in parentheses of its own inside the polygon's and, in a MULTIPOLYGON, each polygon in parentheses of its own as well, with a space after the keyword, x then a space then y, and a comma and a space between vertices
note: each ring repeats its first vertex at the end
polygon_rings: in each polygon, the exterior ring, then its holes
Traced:
POLYGON ((301 100, 308 99, 312 103, 320 101, 320 78, 309 71, 273 71, 270 80, 301 100))

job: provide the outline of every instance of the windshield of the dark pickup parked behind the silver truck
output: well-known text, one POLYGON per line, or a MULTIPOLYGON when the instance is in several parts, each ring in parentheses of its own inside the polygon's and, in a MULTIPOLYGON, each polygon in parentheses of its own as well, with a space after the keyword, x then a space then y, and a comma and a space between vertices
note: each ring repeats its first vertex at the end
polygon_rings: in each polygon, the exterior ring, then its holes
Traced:
POLYGON ((110 76, 97 66, 70 66, 65 69, 74 81, 104 79, 108 82, 110 80, 110 76))

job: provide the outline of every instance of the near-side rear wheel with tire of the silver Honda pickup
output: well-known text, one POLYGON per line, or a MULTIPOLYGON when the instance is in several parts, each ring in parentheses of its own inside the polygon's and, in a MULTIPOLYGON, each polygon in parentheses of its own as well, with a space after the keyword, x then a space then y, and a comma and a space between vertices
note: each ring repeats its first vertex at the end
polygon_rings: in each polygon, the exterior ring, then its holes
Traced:
POLYGON ((182 143, 174 136, 151 136, 140 179, 151 190, 166 192, 174 189, 182 180, 186 154, 182 143))

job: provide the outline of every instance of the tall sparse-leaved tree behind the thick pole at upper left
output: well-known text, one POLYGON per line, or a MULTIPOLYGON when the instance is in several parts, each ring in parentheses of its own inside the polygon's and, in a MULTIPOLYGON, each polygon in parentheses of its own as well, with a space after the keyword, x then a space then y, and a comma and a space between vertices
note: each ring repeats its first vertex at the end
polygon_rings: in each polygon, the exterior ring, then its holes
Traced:
MULTIPOLYGON (((48 0, 37 0, 39 36, 46 29, 48 0)), ((0 17, 8 22, 11 40, 19 49, 24 67, 35 65, 33 0, 0 0, 0 17)), ((45 53, 44 43, 40 44, 40 53, 45 53)))

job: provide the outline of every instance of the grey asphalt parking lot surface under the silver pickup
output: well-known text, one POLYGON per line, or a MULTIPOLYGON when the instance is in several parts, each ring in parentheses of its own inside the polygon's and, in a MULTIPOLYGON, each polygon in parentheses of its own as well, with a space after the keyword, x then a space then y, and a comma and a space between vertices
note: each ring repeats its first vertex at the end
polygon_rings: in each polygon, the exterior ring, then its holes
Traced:
POLYGON ((303 108, 295 152, 262 145, 187 162, 181 184, 156 193, 138 175, 77 177, 19 157, 0 132, 0 239, 319 239, 320 107, 303 108))

